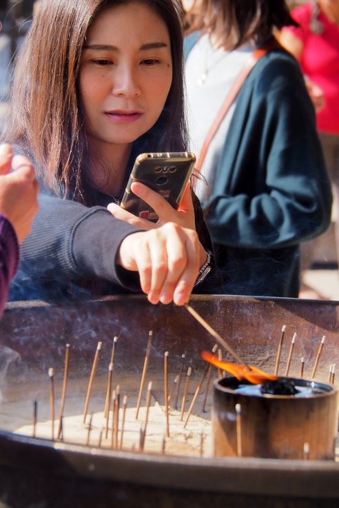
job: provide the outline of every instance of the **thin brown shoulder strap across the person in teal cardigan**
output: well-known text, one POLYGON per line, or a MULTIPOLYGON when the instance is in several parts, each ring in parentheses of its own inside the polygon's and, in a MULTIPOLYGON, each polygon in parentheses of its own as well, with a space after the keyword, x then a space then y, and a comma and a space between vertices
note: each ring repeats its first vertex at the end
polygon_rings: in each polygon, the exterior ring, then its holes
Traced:
POLYGON ((257 50, 254 50, 254 52, 251 53, 249 59, 245 63, 244 67, 240 70, 238 76, 236 77, 231 87, 231 90, 229 90, 227 96, 225 97, 225 100, 223 101, 223 104, 220 107, 220 110, 216 114, 216 118, 214 119, 211 127, 209 128, 209 131, 207 132, 205 141, 203 142, 203 146, 201 148, 200 155, 198 156, 198 161, 196 161, 195 165, 196 172, 201 171, 201 167, 203 167, 203 162, 205 161, 205 156, 207 154, 209 144, 216 135, 216 132, 218 131, 218 128, 220 127, 221 122, 225 118, 227 111, 231 107, 234 99, 236 99, 236 96, 240 92, 240 88, 242 87, 247 76, 249 75, 249 72, 251 72, 251 70, 254 68, 254 65, 256 65, 257 61, 260 60, 261 57, 263 57, 269 50, 276 47, 277 43, 276 41, 274 41, 274 43, 269 43, 269 45, 265 45, 263 48, 258 48, 257 50))

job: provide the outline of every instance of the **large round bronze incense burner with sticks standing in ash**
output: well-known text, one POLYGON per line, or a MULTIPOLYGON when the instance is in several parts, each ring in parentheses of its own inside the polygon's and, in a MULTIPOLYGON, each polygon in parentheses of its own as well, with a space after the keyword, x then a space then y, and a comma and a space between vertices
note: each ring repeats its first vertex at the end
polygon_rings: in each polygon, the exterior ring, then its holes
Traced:
POLYGON ((283 328, 278 376, 314 392, 294 399, 298 409, 291 398, 281 409, 279 396, 239 394, 248 383, 201 358, 217 346, 185 307, 142 296, 10 303, 0 323, 1 508, 338 507, 339 303, 194 296, 191 305, 265 372, 277 368, 283 328), (228 428, 211 424, 214 390, 214 415, 231 392, 228 428))

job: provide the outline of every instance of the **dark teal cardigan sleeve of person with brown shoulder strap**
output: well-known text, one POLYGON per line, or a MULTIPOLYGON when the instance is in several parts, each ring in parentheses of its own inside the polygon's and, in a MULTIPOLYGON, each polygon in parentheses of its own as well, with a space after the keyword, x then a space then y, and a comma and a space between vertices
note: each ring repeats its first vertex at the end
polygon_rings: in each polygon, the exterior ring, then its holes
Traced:
POLYGON ((208 225, 223 245, 287 247, 325 231, 331 187, 298 64, 267 54, 254 71, 238 96, 208 225))

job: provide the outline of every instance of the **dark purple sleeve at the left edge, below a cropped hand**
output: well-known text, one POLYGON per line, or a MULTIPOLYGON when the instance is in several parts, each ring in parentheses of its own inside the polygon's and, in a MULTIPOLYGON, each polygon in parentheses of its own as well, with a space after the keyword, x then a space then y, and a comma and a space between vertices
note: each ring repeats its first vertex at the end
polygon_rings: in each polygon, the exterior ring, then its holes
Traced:
POLYGON ((19 244, 12 224, 0 214, 0 316, 6 305, 10 281, 19 265, 19 244))

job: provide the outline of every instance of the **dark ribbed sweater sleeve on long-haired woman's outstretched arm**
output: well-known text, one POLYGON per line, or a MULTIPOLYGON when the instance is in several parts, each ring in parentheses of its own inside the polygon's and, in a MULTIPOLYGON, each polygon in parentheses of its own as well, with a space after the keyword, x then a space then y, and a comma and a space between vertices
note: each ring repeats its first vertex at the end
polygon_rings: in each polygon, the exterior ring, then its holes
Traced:
POLYGON ((103 278, 124 285, 129 274, 116 266, 116 254, 123 238, 137 231, 105 207, 41 194, 39 213, 21 246, 21 271, 37 281, 103 278))

